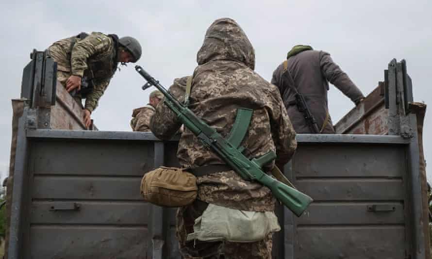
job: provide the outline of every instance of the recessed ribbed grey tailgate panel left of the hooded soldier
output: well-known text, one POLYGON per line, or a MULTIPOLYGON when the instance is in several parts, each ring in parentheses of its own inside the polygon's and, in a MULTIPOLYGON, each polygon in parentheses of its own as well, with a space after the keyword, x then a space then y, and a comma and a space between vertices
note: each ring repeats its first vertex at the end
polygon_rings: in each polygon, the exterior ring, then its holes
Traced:
POLYGON ((157 162, 153 141, 30 142, 26 258, 149 258, 151 206, 140 198, 139 185, 157 162))

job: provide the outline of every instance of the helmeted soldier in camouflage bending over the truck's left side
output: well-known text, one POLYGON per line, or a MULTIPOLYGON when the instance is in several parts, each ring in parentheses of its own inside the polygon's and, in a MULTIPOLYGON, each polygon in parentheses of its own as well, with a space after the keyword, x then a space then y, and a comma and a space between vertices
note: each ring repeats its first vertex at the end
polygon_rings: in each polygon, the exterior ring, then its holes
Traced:
POLYGON ((48 55, 57 62, 57 80, 67 92, 76 92, 75 100, 84 104, 84 124, 90 126, 90 115, 98 106, 120 62, 139 60, 141 45, 133 37, 118 38, 116 34, 80 33, 54 42, 48 55))

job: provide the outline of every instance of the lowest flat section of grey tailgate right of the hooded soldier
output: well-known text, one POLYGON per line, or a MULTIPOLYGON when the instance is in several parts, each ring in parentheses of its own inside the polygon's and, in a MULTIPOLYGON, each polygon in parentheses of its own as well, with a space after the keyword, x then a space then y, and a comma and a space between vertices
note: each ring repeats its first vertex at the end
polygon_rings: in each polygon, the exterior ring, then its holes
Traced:
POLYGON ((406 259, 403 226, 298 227, 298 259, 406 259))

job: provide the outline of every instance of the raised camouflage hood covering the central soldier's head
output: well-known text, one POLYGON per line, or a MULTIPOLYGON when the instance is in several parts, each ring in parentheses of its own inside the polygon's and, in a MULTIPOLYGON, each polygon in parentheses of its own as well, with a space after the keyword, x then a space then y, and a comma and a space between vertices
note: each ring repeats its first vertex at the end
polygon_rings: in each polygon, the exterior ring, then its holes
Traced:
POLYGON ((255 69, 252 44, 233 19, 217 19, 205 33, 204 43, 197 54, 198 65, 215 60, 235 61, 255 69))

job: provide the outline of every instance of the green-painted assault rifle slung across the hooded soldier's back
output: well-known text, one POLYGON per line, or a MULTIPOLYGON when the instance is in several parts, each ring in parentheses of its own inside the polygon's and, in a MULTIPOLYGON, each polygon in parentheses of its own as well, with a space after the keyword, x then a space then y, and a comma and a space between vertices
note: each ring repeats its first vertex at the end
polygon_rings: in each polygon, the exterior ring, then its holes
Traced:
MULTIPOLYGON (((143 90, 149 88, 150 86, 155 86, 159 91, 161 91, 165 96, 165 104, 175 114, 177 114, 183 125, 192 131, 198 137, 201 143, 212 148, 213 151, 231 168, 233 168, 237 174, 246 180, 256 180, 259 183, 267 186, 272 191, 272 194, 298 217, 304 212, 304 210, 306 210, 306 208, 312 202, 311 197, 278 181, 275 178, 270 177, 261 169, 264 164, 271 162, 276 158, 276 153, 274 151, 269 151, 259 158, 249 160, 242 153, 244 147, 239 146, 241 139, 239 140, 238 134, 233 132, 235 131, 235 127, 233 127, 229 139, 224 139, 222 135, 216 131, 216 129, 207 125, 203 120, 195 115, 195 113, 189 110, 187 106, 181 104, 176 98, 171 96, 164 86, 162 86, 159 81, 156 81, 153 77, 151 77, 141 66, 136 65, 135 70, 147 81, 147 83, 143 86, 143 90)), ((237 124, 244 125, 244 123, 242 123, 244 120, 239 119, 242 117, 241 113, 249 113, 251 116, 252 110, 237 110, 236 122, 239 121, 237 124)), ((249 126, 250 117, 249 121, 246 122, 247 126, 249 126)), ((243 138, 243 136, 241 136, 241 138, 243 138)))

